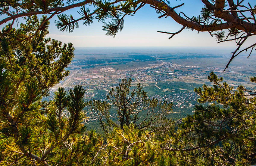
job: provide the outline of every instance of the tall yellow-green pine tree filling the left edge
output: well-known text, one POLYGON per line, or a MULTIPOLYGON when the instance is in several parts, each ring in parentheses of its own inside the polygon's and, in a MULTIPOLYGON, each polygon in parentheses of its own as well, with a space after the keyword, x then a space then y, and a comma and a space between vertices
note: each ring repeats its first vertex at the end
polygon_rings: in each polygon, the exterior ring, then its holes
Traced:
MULTIPOLYGON (((90 142, 95 139, 95 134, 83 135, 86 102, 81 86, 69 90, 68 95, 60 88, 50 104, 42 102, 49 87, 68 75, 65 68, 74 56, 71 43, 62 46, 57 40, 45 38, 48 21, 37 31, 44 17, 40 22, 36 16, 28 17, 26 24, 17 30, 11 29, 1 38, 1 165, 81 162, 86 155, 82 155, 80 161, 80 152, 89 153, 90 142), (27 39, 34 32, 35 35, 27 39), (68 117, 63 116, 65 111, 68 117)), ((7 29, 8 26, 3 32, 7 29)))

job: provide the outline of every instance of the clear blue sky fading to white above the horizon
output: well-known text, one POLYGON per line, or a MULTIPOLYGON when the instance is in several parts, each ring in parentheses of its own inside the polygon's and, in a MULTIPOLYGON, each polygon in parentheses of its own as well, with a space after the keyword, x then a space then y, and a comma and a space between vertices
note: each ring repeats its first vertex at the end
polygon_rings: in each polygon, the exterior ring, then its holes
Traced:
MULTIPOLYGON (((176 6, 185 3, 182 7, 176 9, 179 13, 183 11, 187 16, 200 14, 203 3, 201 0, 170 0, 170 6, 176 6)), ((255 5, 255 0, 245 0, 244 4, 251 2, 255 5)), ((74 18, 78 18, 77 13, 79 8, 74 8, 66 11, 66 14, 72 14, 74 18)), ((214 37, 211 37, 208 32, 184 30, 180 34, 175 35, 168 40, 170 35, 161 34, 157 31, 176 32, 182 28, 182 25, 176 23, 170 17, 158 19, 158 14, 155 9, 147 6, 142 7, 137 11, 135 16, 127 16, 125 18, 124 29, 118 32, 116 37, 106 36, 105 31, 102 31, 102 24, 95 21, 90 26, 83 25, 83 21, 79 22, 79 28, 74 29, 73 33, 59 31, 54 23, 57 16, 51 19, 49 28, 50 34, 48 37, 62 41, 63 43, 71 42, 75 47, 97 47, 97 46, 167 46, 167 47, 208 47, 208 46, 234 46, 233 42, 217 44, 214 37)), ((0 27, 2 28, 2 27, 0 27)), ((248 44, 255 42, 254 39, 249 39, 248 44)))

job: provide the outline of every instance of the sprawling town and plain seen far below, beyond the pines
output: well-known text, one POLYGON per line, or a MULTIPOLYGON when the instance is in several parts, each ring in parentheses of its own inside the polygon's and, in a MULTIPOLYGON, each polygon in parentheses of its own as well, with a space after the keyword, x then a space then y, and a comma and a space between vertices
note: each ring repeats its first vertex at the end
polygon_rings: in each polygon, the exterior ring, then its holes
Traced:
MULTIPOLYGON (((133 86, 141 84, 148 97, 160 101, 173 102, 173 112, 169 116, 175 120, 193 114, 194 106, 199 96, 194 88, 202 87, 202 83, 211 86, 207 76, 214 71, 222 76, 230 86, 237 88, 240 84, 248 88, 255 85, 250 82, 253 70, 234 61, 229 70, 223 72, 225 63, 219 63, 227 55, 181 54, 158 55, 136 53, 109 54, 107 57, 99 55, 76 55, 69 65, 70 75, 55 87, 50 89, 51 100, 58 87, 66 90, 74 85, 82 85, 86 89, 85 100, 106 100, 112 88, 118 86, 122 79, 133 80, 133 86), (85 56, 83 59, 81 57, 85 56), (207 58, 205 58, 207 57, 207 58), (211 63, 203 63, 211 61, 211 63), (218 62, 218 63, 216 63, 218 62)), ((252 64, 253 65, 253 64, 252 64)), ((85 109, 86 123, 96 120, 89 108, 85 109)), ((114 114, 114 113, 113 113, 114 114)), ((114 116, 114 115, 113 115, 114 116)))

